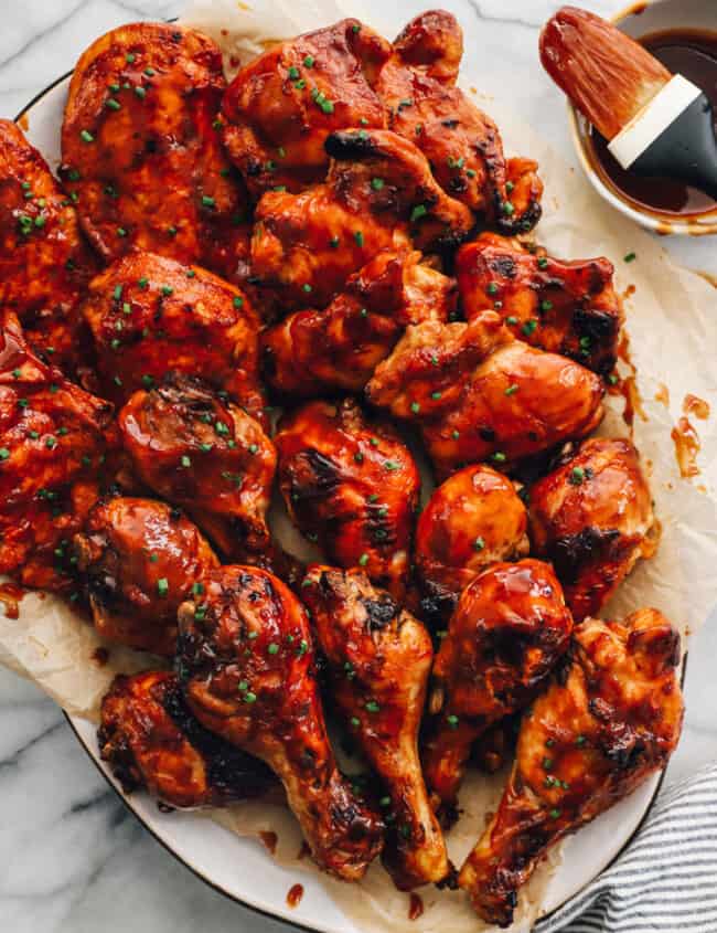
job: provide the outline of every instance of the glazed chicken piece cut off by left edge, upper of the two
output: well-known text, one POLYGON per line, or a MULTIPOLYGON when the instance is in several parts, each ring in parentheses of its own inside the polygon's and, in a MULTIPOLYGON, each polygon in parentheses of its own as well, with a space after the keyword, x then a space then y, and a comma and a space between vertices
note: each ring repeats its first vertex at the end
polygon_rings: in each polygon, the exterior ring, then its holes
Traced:
POLYGON ((0 305, 34 352, 83 378, 92 341, 79 301, 97 262, 72 202, 10 120, 0 120, 0 305))

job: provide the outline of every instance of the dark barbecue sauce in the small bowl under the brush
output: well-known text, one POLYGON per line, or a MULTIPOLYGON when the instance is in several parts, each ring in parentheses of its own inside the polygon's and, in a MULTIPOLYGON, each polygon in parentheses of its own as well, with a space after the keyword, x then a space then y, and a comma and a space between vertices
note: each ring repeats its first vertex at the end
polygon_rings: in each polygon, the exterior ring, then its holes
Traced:
MULTIPOLYGON (((673 74, 682 74, 700 87, 715 109, 717 128, 717 32, 668 30, 640 39, 655 59, 673 74)), ((619 189, 639 208, 648 206, 670 216, 688 216, 717 210, 708 194, 667 178, 641 178, 625 171, 608 150, 607 140, 591 130, 592 161, 602 180, 619 189)))

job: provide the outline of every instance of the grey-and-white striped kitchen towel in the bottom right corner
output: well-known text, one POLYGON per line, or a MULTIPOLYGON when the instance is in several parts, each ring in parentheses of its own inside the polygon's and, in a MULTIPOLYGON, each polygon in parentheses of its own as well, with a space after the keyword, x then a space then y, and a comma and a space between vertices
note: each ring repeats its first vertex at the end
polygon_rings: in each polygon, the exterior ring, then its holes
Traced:
POLYGON ((659 797, 630 846, 535 933, 717 933, 717 764, 659 797))

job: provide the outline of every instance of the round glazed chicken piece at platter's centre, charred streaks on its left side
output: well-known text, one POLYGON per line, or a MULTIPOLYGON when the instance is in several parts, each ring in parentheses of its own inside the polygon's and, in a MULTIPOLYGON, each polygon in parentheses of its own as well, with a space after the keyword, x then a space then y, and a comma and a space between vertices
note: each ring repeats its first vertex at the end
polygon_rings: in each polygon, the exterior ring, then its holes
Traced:
POLYGON ((274 438, 292 521, 342 568, 361 566, 395 597, 404 592, 420 477, 385 422, 352 400, 309 402, 274 438))

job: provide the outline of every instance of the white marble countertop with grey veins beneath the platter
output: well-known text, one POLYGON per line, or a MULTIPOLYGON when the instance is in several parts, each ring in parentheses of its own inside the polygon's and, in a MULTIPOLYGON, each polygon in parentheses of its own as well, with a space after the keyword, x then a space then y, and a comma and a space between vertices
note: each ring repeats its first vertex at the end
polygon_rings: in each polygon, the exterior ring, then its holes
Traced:
MULTIPOLYGON (((13 117, 122 22, 176 14, 170 0, 0 0, 0 116, 13 117)), ((368 6, 368 2, 366 3, 368 6)), ((429 6, 394 0, 406 19, 429 6)), ((443 2, 482 62, 481 91, 511 99, 575 165, 564 105, 537 61, 554 0, 443 2)), ((589 0, 612 12, 621 0, 589 0)), ((708 241, 664 241, 682 262, 717 272, 708 241)), ((713 617, 717 623, 717 616, 713 617)), ((685 731, 667 781, 717 759, 717 624, 691 646, 685 731)), ((227 933, 286 930, 216 893, 147 834, 77 744, 61 711, 0 668, 0 930, 8 933, 227 933)))

